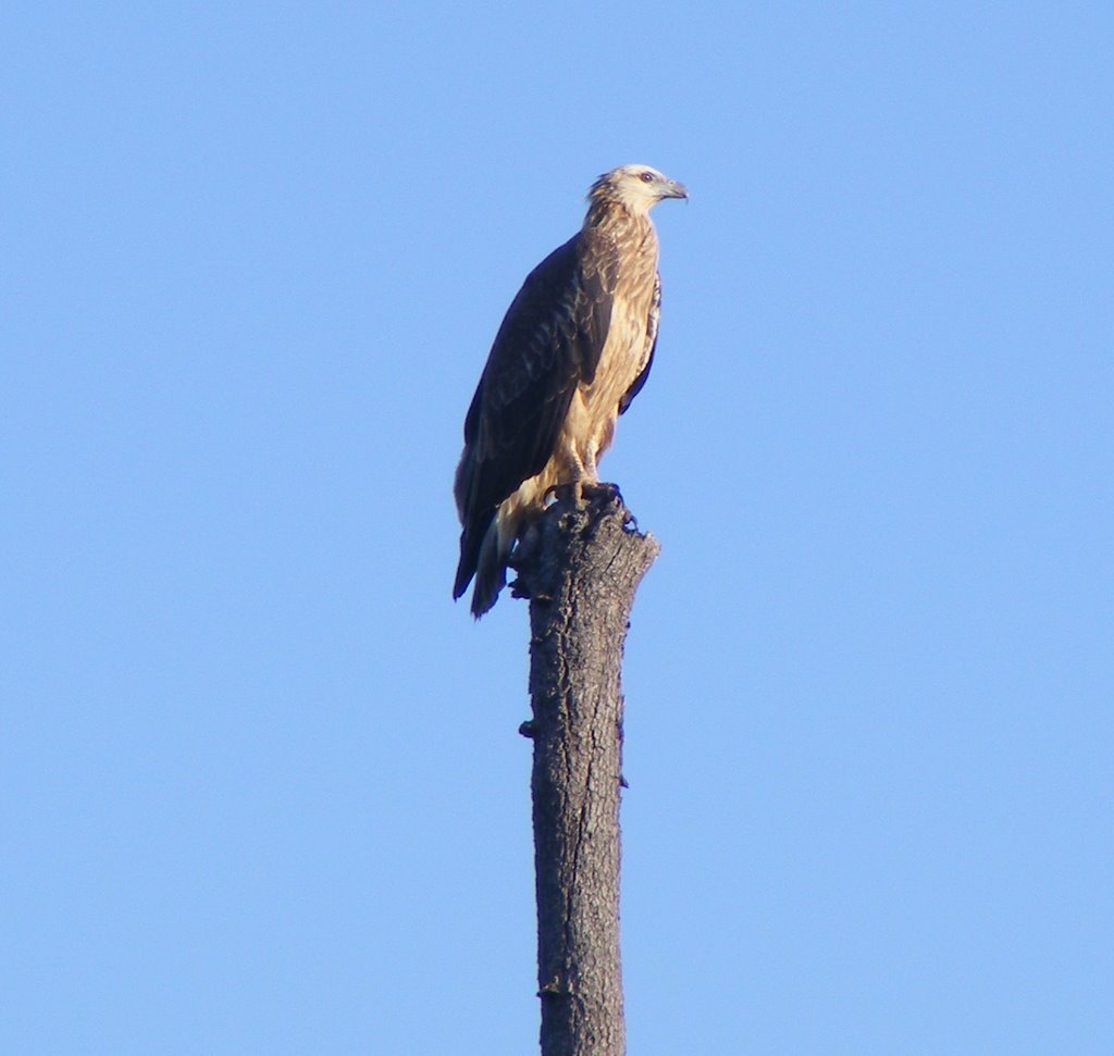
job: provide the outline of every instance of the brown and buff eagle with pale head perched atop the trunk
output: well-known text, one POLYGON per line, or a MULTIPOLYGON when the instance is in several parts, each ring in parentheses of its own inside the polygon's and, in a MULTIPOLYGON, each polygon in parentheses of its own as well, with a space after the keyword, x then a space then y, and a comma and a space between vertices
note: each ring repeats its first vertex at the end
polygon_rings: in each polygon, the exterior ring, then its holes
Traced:
POLYGON ((496 334, 465 418, 453 497, 459 598, 495 605, 516 540, 555 488, 583 500, 615 422, 646 383, 662 281, 649 211, 687 198, 648 165, 623 165, 588 192, 584 225, 526 276, 496 334))

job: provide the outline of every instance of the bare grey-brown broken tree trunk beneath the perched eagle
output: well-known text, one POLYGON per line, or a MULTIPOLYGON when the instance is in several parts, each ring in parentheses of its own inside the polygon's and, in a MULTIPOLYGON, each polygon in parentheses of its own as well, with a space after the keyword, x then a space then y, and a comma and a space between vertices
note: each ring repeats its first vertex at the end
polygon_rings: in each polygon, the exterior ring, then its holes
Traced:
POLYGON ((620 672, 631 606, 657 556, 617 497, 550 507, 517 560, 530 598, 534 848, 541 1056, 623 1056, 620 672))

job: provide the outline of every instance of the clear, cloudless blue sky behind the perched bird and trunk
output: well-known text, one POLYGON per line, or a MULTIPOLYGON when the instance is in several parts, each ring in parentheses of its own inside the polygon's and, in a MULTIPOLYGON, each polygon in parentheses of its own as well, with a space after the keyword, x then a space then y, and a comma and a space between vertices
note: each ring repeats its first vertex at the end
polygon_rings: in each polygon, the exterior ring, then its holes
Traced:
POLYGON ((536 1050, 522 277, 641 162, 629 1048, 1114 1052, 1108 3, 20 4, 0 1050, 536 1050))

